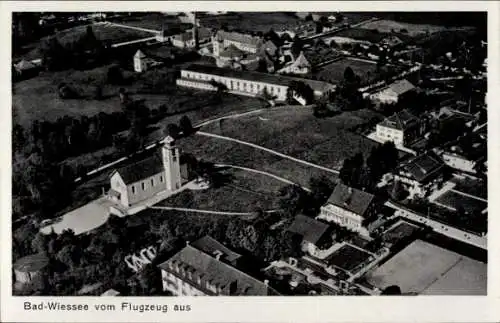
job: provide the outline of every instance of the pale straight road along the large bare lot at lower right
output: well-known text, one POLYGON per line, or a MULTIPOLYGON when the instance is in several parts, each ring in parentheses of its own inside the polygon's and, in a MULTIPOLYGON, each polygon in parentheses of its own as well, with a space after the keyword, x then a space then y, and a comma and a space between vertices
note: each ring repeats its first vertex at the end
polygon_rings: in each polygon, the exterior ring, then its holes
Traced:
POLYGON ((395 215, 396 216, 401 216, 403 218, 407 218, 409 220, 418 222, 418 223, 423 223, 429 227, 431 227, 435 232, 438 232, 442 235, 448 236, 450 238, 453 238, 455 240, 459 240, 462 242, 465 242, 467 244, 482 248, 482 249, 487 249, 487 237, 484 236, 478 236, 454 227, 451 227, 449 225, 443 224, 438 221, 434 221, 430 218, 427 218, 425 216, 416 214, 414 212, 408 211, 406 209, 403 209, 391 202, 386 202, 386 206, 396 210, 395 215))

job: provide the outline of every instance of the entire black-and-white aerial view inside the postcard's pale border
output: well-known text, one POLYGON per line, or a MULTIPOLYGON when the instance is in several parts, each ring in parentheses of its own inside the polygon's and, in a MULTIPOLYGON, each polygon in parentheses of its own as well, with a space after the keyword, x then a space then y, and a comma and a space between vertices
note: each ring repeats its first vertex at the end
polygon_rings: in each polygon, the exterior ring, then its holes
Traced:
POLYGON ((14 12, 12 295, 487 295, 486 12, 14 12))

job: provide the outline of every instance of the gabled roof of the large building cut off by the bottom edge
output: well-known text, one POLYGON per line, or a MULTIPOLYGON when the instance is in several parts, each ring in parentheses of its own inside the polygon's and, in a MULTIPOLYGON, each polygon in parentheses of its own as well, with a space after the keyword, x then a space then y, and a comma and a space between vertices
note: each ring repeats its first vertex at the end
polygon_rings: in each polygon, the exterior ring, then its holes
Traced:
MULTIPOLYGON (((187 245, 172 258, 159 265, 161 269, 173 272, 170 266, 179 266, 191 272, 194 271, 194 273, 192 273, 192 279, 188 277, 182 277, 182 279, 190 281, 194 286, 199 286, 197 280, 200 278, 202 285, 210 282, 211 284, 219 286, 222 289, 223 295, 277 295, 272 288, 263 282, 229 264, 217 260, 192 245, 187 245)), ((207 292, 209 294, 218 294, 207 292)))

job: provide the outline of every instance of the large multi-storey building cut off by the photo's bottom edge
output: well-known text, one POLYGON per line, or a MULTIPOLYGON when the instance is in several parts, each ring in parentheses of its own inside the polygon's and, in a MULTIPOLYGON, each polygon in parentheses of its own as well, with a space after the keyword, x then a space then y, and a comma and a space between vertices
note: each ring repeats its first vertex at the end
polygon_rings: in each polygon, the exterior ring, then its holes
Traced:
POLYGON ((160 264, 163 290, 175 296, 269 296, 267 282, 237 268, 241 256, 204 237, 160 264))

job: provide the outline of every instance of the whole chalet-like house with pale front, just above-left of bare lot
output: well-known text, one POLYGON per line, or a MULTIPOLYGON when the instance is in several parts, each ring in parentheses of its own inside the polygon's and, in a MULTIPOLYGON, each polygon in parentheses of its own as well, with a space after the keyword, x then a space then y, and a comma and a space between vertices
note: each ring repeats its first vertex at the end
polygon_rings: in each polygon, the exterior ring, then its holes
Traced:
POLYGON ((318 219, 337 223, 368 236, 366 223, 372 220, 377 212, 378 203, 373 194, 340 183, 321 207, 318 219))

